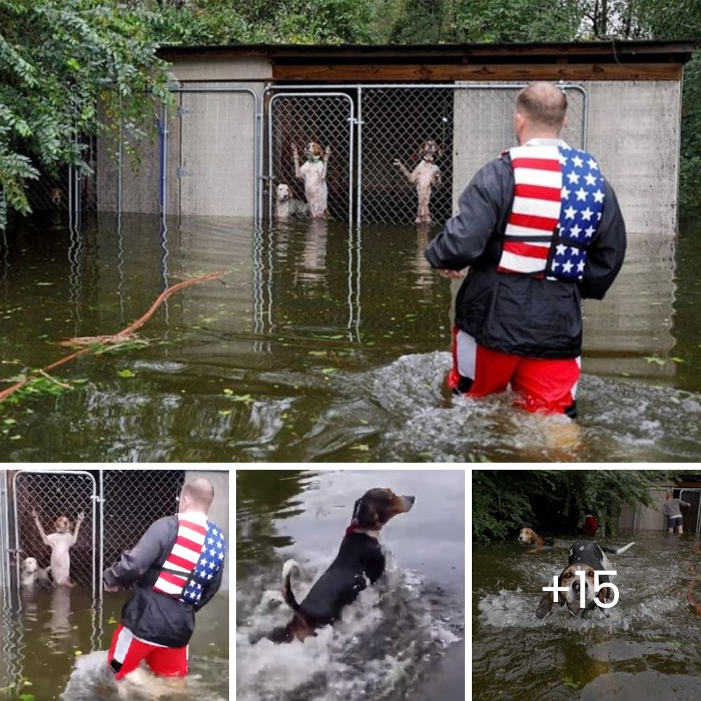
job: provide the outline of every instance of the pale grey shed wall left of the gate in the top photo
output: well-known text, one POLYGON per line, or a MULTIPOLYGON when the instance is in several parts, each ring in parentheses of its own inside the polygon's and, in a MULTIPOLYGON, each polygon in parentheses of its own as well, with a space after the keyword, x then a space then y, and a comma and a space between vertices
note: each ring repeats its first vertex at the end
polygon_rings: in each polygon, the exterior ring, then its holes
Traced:
MULTIPOLYGON (((257 95, 272 75, 269 62, 257 58, 184 57, 172 64, 171 71, 183 88, 249 88, 257 95)), ((250 93, 177 93, 176 103, 181 114, 177 108, 168 111, 166 212, 252 217, 254 97, 250 93)), ((137 168, 123 159, 122 211, 155 214, 161 187, 158 138, 147 139, 141 153, 137 168)), ((97 158, 97 208, 116 211, 118 167, 104 139, 98 142, 97 158)))

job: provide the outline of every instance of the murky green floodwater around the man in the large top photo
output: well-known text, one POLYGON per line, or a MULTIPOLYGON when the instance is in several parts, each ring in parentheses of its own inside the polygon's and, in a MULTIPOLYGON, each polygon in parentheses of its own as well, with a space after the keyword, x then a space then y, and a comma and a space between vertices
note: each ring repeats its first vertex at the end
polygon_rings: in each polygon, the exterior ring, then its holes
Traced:
POLYGON ((445 395, 433 231, 20 221, 0 232, 0 388, 67 355, 62 339, 127 327, 167 285, 225 274, 159 307, 147 345, 83 355, 2 405, 0 461, 698 460, 701 230, 683 231, 632 233, 613 290, 585 306, 573 427, 445 395))

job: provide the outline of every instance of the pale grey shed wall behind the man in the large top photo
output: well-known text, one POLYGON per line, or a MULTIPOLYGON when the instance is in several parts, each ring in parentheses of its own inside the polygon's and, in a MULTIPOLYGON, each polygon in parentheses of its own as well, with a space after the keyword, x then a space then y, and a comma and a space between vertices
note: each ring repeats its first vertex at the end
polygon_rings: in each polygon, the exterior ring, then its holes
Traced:
MULTIPOLYGON (((585 81, 589 104, 587 149, 613 185, 627 226, 635 234, 669 235, 676 231, 679 178, 679 81, 585 81)), ((489 105, 484 119, 482 91, 458 91, 454 115, 454 211, 457 199, 479 167, 495 157, 494 145, 514 143, 510 104, 489 105), (491 113, 494 112, 494 116, 491 113), (498 117, 501 114, 501 125, 498 117), (508 133, 502 133, 504 126, 508 133)), ((577 130, 563 137, 580 146, 577 130)))

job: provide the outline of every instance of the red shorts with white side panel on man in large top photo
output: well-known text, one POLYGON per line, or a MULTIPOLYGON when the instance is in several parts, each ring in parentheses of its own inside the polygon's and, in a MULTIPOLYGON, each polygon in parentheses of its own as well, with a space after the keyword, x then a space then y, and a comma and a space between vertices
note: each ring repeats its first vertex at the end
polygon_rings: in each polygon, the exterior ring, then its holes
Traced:
POLYGON ((516 404, 526 411, 574 416, 579 358, 524 358, 477 345, 472 336, 453 330, 453 367, 446 378, 451 390, 470 397, 505 392, 509 385, 520 395, 516 404))

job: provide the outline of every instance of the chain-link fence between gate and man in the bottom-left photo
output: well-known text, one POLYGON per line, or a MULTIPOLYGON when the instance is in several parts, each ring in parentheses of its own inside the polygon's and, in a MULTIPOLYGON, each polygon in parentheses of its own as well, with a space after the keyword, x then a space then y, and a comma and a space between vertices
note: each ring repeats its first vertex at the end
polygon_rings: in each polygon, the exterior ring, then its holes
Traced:
POLYGON ((102 569, 136 545, 149 526, 177 512, 184 470, 102 472, 102 569))

